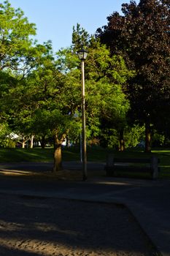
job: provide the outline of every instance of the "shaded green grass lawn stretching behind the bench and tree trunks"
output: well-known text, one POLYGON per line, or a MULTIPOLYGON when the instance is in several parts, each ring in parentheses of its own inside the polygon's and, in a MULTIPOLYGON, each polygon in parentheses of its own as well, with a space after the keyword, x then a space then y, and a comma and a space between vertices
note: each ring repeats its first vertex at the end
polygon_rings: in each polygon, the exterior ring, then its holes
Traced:
MULTIPOLYGON (((50 162, 53 161, 53 151, 53 148, 0 148, 0 162, 50 162)), ((112 150, 108 148, 88 147, 88 161, 106 162, 109 152, 112 150)), ((114 154, 118 158, 149 158, 155 155, 160 159, 159 177, 170 178, 170 148, 155 148, 149 154, 137 150, 114 151, 114 154)), ((63 161, 80 161, 80 148, 63 149, 63 161)))

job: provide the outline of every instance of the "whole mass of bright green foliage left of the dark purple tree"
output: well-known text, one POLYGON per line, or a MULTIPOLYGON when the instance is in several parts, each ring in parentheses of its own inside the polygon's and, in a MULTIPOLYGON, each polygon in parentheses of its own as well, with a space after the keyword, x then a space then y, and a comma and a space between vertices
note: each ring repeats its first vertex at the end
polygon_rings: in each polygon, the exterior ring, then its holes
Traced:
POLYGON ((121 56, 110 56, 109 50, 79 24, 73 29, 73 45, 54 55, 51 42, 36 45, 30 39, 36 28, 22 10, 13 9, 5 1, 0 15, 1 118, 8 121, 12 131, 27 137, 53 137, 56 147, 66 137, 79 137, 81 70, 75 53, 82 45, 89 51, 85 61, 88 137, 104 132, 104 120, 113 124, 110 131, 124 125, 129 104, 123 85, 133 74, 121 56))

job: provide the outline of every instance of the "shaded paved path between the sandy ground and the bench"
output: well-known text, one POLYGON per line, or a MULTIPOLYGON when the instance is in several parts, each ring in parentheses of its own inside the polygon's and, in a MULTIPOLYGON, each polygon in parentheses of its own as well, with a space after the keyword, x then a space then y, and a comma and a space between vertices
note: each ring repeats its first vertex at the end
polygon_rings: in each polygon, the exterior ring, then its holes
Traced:
POLYGON ((127 206, 161 255, 170 256, 170 181, 104 176, 90 177, 85 182, 2 177, 0 192, 5 195, 97 202, 102 207, 104 203, 127 206))

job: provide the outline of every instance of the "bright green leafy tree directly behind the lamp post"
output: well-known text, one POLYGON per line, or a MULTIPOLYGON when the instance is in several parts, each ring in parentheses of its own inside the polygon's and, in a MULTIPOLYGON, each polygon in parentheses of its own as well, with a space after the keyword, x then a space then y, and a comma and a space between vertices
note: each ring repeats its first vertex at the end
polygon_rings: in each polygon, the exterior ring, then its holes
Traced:
MULTIPOLYGON (((122 129, 125 122, 125 113, 128 110, 128 101, 122 91, 122 85, 129 76, 134 75, 125 67, 120 56, 110 57, 109 50, 101 45, 93 36, 88 37, 84 29, 78 26, 74 30, 73 46, 67 51, 60 52, 60 71, 69 75, 69 80, 77 80, 77 89, 80 90, 80 61, 75 59, 78 47, 88 47, 88 59, 85 61, 85 102, 86 102, 86 124, 88 138, 96 138, 101 134, 101 119, 112 120, 115 129, 122 129), (82 41, 82 34, 87 38, 82 41), (74 61, 72 61, 74 59, 74 61), (62 65, 61 65, 62 60, 62 65), (75 66, 76 64, 76 66, 75 66), (63 67, 61 69, 61 66, 63 67), (66 68, 67 67, 67 68, 66 68), (69 68, 68 68, 69 67, 69 68), (78 69, 75 69, 78 67, 78 69), (78 76, 77 76, 78 75, 78 76), (119 124, 119 125, 118 125, 119 124)), ((76 57, 77 58, 77 57, 76 57)), ((74 92, 75 93, 75 92, 74 92)), ((77 110, 80 110, 80 91, 77 95, 77 110)), ((74 99, 74 103, 75 103, 74 99)))

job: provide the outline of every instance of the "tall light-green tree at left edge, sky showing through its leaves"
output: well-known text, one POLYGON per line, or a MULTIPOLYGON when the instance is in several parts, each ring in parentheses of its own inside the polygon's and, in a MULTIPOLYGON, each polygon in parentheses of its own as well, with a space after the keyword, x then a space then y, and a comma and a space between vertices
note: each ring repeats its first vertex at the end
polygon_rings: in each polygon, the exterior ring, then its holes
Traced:
POLYGON ((24 98, 20 98, 19 91, 20 94, 27 94, 23 77, 45 58, 50 51, 50 42, 44 45, 36 44, 32 39, 36 34, 35 24, 28 22, 22 10, 12 8, 9 1, 0 4, 0 21, 1 121, 8 119, 9 126, 13 129, 15 123, 15 130, 26 137, 31 129, 31 120, 28 118, 28 109, 23 107, 24 104, 26 106, 26 102, 24 98), (18 106, 16 112, 15 105, 18 106))

